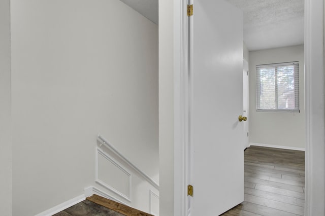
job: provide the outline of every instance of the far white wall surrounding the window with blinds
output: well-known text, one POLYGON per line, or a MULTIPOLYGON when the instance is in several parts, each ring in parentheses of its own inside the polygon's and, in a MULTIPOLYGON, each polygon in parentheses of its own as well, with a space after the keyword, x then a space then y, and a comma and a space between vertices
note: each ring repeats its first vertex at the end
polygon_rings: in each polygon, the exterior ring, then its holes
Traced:
POLYGON ((305 148, 304 47, 249 52, 249 142, 305 148), (300 113, 256 112, 256 65, 299 61, 300 113))

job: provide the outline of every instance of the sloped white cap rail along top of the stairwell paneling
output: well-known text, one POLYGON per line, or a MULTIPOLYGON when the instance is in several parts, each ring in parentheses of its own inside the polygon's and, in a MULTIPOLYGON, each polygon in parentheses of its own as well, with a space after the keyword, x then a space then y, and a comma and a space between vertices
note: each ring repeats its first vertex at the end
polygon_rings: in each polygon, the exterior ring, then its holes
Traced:
POLYGON ((141 169, 139 169, 136 165, 134 165, 131 161, 127 160, 117 149, 109 142, 107 139, 105 139, 103 136, 98 134, 97 140, 101 143, 100 147, 102 145, 106 146, 109 150, 111 150, 114 154, 116 154, 120 159, 122 159, 127 165, 131 166, 134 170, 136 170, 138 173, 140 173, 147 181, 154 186, 157 190, 159 190, 159 185, 152 179, 149 175, 144 173, 141 169))

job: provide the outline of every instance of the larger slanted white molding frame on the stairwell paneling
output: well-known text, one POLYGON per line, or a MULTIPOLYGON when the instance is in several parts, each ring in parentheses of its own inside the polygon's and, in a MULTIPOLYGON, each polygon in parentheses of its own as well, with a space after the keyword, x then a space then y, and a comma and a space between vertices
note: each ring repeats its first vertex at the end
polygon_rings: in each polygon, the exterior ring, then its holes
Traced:
POLYGON ((117 161, 115 161, 113 158, 110 157, 110 155, 106 154, 103 150, 100 148, 96 148, 97 153, 96 153, 96 167, 95 167, 95 182, 98 183, 99 185, 103 186, 104 188, 110 190, 111 192, 115 193, 116 195, 126 199, 129 202, 132 202, 131 200, 131 187, 132 187, 132 175, 131 173, 126 170, 125 167, 123 167, 121 164, 119 164, 117 161), (118 169, 120 169, 122 172, 124 172, 128 176, 128 195, 123 194, 122 192, 118 191, 116 188, 108 185, 101 179, 99 179, 99 157, 98 155, 102 155, 106 160, 111 162, 114 166, 116 166, 118 169))

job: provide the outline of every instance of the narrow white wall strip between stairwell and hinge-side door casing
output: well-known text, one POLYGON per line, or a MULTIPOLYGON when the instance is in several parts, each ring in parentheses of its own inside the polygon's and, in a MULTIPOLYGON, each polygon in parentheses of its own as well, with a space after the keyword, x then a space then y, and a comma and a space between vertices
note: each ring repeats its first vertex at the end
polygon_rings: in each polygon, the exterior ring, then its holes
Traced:
POLYGON ((174 215, 174 23, 172 0, 159 1, 159 215, 174 215), (170 11, 170 13, 166 13, 170 11))

